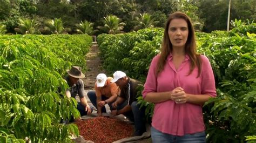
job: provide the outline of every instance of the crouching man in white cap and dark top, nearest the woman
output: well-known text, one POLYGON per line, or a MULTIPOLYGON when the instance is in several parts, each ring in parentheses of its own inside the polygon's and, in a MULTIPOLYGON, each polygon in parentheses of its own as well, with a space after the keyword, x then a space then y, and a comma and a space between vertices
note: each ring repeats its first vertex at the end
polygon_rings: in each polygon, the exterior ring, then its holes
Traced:
POLYGON ((142 135, 146 132, 145 127, 145 108, 139 108, 137 105, 137 87, 140 82, 129 78, 122 71, 116 71, 113 74, 112 83, 116 83, 121 90, 117 100, 112 104, 112 115, 124 114, 127 118, 134 121, 134 136, 142 135))

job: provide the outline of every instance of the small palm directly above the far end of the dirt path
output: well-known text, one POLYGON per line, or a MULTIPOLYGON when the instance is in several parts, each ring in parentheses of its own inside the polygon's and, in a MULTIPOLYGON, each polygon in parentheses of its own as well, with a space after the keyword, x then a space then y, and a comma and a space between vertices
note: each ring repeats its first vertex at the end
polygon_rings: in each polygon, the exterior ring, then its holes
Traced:
POLYGON ((77 29, 76 31, 81 34, 87 34, 87 35, 93 35, 97 30, 93 30, 93 24, 92 22, 84 21, 80 22, 79 24, 75 24, 77 29))

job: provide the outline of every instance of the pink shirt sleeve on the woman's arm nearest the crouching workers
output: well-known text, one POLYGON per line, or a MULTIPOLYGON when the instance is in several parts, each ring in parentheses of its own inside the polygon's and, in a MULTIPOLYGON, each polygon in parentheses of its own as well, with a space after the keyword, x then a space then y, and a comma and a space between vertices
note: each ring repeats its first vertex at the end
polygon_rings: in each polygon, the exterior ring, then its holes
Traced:
POLYGON ((157 76, 156 76, 156 67, 159 59, 159 55, 152 59, 150 64, 149 72, 147 73, 147 79, 144 84, 144 90, 142 91, 143 98, 146 97, 147 93, 157 92, 157 76))

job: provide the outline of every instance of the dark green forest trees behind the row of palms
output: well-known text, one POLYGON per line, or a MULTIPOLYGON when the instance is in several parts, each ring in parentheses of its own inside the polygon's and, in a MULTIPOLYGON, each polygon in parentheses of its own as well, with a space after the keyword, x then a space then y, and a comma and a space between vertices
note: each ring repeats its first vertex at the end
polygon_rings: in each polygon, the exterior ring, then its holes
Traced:
MULTIPOLYGON (((103 18, 115 15, 126 24, 125 32, 130 32, 136 24, 134 18, 140 13, 149 13, 158 23, 154 26, 163 27, 166 17, 175 11, 187 13, 194 23, 203 24, 198 27, 204 32, 225 30, 227 25, 227 0, 2 0, 0 5, 0 24, 7 27, 8 33, 16 33, 19 18, 35 19, 43 28, 46 19, 61 18, 64 28, 73 29, 80 21, 93 22, 94 28, 104 26, 103 18)), ((256 20, 256 1, 231 1, 230 19, 256 20)), ((196 26, 197 28, 197 26, 196 26)), ((100 34, 96 33, 96 35, 100 34)))

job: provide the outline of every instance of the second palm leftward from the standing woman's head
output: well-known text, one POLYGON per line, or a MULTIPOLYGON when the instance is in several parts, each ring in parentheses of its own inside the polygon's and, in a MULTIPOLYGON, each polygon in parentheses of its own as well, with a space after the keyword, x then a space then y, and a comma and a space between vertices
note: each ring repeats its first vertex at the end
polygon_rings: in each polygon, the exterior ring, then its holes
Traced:
POLYGON ((98 29, 103 30, 103 32, 109 34, 123 33, 125 23, 120 22, 120 19, 117 16, 109 15, 104 17, 104 26, 98 26, 98 29))

